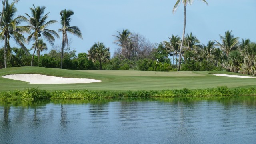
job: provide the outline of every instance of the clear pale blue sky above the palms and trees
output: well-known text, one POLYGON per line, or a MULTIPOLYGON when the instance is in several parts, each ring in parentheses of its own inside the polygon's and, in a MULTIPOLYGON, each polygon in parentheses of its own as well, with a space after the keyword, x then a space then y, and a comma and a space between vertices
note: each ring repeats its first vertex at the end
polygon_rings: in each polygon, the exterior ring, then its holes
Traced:
MULTIPOLYGON (((256 42, 256 0, 206 1, 208 5, 194 0, 192 6, 186 7, 186 34, 192 32, 201 44, 206 44, 209 40, 219 41, 219 34, 224 36, 227 30, 232 30, 232 34, 240 40, 250 38, 256 42)), ((83 40, 69 34, 70 47, 77 53, 87 53, 94 42, 99 41, 110 47, 113 55, 118 46, 113 44, 115 38, 112 35, 123 29, 140 33, 152 43, 168 40, 172 34, 182 36, 184 6, 181 4, 173 14, 175 3, 176 0, 20 0, 16 7, 17 14, 25 16, 25 13, 30 14, 32 4, 46 6, 45 12, 50 12, 48 20, 58 22, 61 10, 73 10, 70 25, 80 28, 83 40)), ((60 23, 49 28, 58 31, 60 23)), ((32 42, 27 48, 31 45, 32 42)), ((60 46, 61 39, 56 39, 55 47, 60 46)), ((48 44, 48 49, 51 48, 48 44)))

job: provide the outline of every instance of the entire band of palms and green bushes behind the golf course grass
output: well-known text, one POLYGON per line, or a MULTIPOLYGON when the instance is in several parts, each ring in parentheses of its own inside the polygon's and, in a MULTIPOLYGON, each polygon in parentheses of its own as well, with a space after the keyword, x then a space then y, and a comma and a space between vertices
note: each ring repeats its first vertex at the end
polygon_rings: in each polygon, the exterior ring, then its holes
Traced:
MULTIPOLYGON (((207 4, 205 0, 202 0, 207 4)), ((16 0, 15 2, 18 2, 16 0)), ((6 0, 1 17, 0 34, 5 44, 0 49, 0 68, 18 66, 41 66, 48 68, 64 68, 78 70, 143 70, 143 71, 202 71, 202 70, 228 70, 241 74, 256 75, 256 43, 249 39, 242 39, 226 31, 220 41, 209 41, 200 44, 200 40, 190 32, 179 36, 172 35, 168 40, 159 44, 152 44, 144 36, 131 33, 128 29, 117 32, 114 37, 119 49, 110 57, 109 49, 101 42, 92 43, 88 52, 76 54, 75 49, 70 48, 67 34, 74 34, 82 38, 82 33, 76 26, 70 26, 72 10, 60 12, 62 44, 52 48, 48 53, 40 54, 47 50, 47 40, 53 44, 59 35, 51 29, 47 29, 56 20, 47 20, 48 14, 44 14, 46 7, 34 6, 30 8, 31 14, 18 16, 15 2, 6 0), (20 26, 21 24, 27 24, 20 26), (25 38, 23 34, 27 34, 25 38), (44 38, 44 39, 41 39, 44 38), (20 48, 11 47, 9 39, 13 39, 20 48), (26 43, 33 41, 32 48, 26 48, 26 43), (30 50, 32 54, 30 54, 30 50), (37 58, 34 57, 35 52, 37 58), (156 60, 158 59, 159 62, 156 60), (179 60, 180 59, 180 60, 179 60), (181 64, 178 64, 178 63, 181 64)), ((189 0, 177 0, 173 11, 178 4, 184 4, 184 16, 186 5, 192 4, 189 0)), ((184 21, 184 32, 185 32, 184 21)))

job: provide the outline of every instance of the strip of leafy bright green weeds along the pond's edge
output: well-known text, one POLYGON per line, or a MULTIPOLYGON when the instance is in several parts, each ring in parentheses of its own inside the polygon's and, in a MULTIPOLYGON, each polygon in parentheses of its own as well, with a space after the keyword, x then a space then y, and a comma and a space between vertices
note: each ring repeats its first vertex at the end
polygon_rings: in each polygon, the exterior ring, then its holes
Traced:
POLYGON ((256 96, 256 89, 234 88, 226 86, 208 89, 174 89, 174 90, 139 90, 139 91, 106 91, 106 90, 66 90, 47 91, 38 88, 0 92, 0 101, 12 100, 45 100, 76 99, 100 100, 107 98, 178 98, 178 97, 218 97, 218 96, 256 96))

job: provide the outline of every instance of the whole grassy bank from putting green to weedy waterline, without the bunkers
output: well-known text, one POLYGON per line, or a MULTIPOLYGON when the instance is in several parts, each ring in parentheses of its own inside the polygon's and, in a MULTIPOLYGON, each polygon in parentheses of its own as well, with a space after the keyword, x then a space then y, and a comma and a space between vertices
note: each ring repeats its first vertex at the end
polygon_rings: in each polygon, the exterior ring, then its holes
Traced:
MULTIPOLYGON (((90 71, 42 67, 0 69, 0 100, 210 97, 256 95, 255 78, 231 78, 212 74, 242 75, 225 71, 146 72, 133 70, 90 71), (1 76, 44 74, 65 78, 102 80, 87 84, 29 84, 1 76)), ((246 75, 242 75, 246 76, 246 75)))

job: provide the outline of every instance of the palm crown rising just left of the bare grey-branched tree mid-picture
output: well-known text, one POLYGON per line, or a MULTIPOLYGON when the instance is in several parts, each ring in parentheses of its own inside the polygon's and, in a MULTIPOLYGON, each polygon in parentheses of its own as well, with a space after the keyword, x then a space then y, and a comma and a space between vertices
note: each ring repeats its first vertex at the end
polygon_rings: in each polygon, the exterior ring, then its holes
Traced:
POLYGON ((121 54, 125 55, 128 53, 128 56, 126 58, 130 58, 130 49, 131 49, 131 35, 132 33, 126 29, 123 30, 122 33, 118 32, 118 36, 113 35, 117 38, 117 40, 114 41, 114 44, 117 44, 121 47, 121 54), (126 51, 126 52, 125 52, 126 51))

